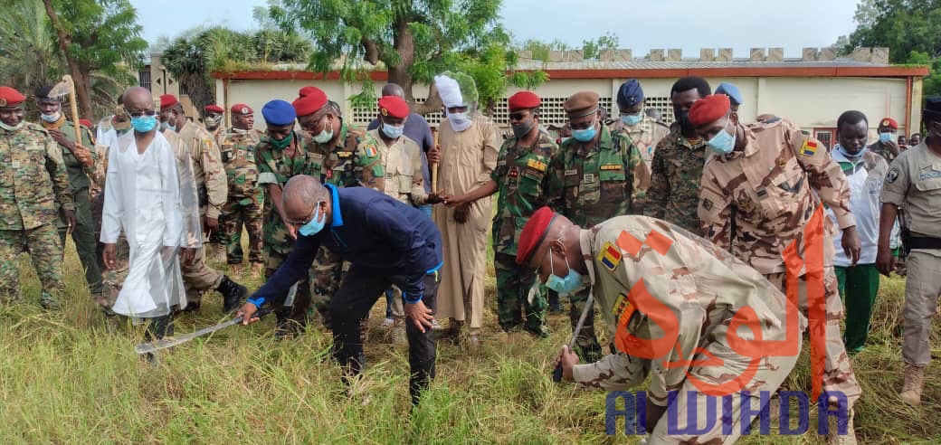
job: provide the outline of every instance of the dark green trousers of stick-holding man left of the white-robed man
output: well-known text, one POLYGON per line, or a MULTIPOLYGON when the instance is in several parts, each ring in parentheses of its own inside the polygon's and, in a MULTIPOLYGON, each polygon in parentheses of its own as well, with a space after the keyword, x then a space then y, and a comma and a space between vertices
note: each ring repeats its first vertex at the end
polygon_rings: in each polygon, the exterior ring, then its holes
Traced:
MULTIPOLYGON (((88 290, 91 291, 91 294, 99 294, 102 292, 102 269, 98 261, 98 238, 95 237, 95 233, 101 231, 101 223, 98 223, 99 227, 96 230, 87 188, 72 192, 72 199, 75 203, 75 227, 72 228, 72 241, 75 242, 78 260, 82 262, 82 268, 85 269, 85 281, 88 283, 88 290)), ((65 237, 69 231, 69 226, 65 219, 65 213, 61 210, 59 210, 59 218, 56 221, 56 229, 59 235, 59 246, 62 246, 62 253, 64 254, 65 237)))

